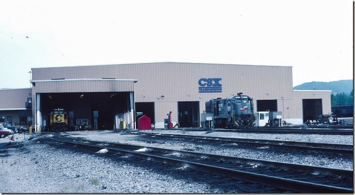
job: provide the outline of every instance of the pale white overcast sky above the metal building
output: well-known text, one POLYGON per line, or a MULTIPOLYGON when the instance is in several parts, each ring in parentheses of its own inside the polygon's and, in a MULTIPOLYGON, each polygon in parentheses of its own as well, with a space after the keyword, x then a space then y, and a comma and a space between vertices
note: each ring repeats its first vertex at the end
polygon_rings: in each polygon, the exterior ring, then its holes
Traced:
POLYGON ((292 66, 293 86, 353 79, 353 2, 0 1, 0 88, 30 87, 34 67, 145 62, 292 66))

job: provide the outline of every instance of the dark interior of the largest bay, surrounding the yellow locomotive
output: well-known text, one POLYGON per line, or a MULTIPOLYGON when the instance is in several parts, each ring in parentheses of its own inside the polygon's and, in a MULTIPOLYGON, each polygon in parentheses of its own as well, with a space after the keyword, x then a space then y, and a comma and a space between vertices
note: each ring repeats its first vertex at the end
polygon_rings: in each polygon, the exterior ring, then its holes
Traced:
MULTIPOLYGON (((41 93, 41 113, 44 129, 50 129, 50 113, 53 109, 64 109, 68 116, 68 130, 75 130, 80 121, 87 121, 89 129, 94 128, 93 111, 98 111, 98 130, 114 129, 115 114, 126 112, 127 92, 72 92, 41 93), (74 118, 69 117, 69 112, 74 118), (71 126, 70 121, 73 121, 71 126)), ((80 125, 80 124, 79 124, 80 125)))

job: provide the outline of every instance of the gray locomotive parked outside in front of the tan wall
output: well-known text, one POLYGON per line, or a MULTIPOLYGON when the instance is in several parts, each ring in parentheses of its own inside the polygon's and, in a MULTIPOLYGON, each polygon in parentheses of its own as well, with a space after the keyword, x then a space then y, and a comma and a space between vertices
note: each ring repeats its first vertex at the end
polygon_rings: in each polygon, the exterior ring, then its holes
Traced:
POLYGON ((253 99, 243 93, 206 102, 206 113, 213 113, 214 128, 249 128, 255 124, 253 99))

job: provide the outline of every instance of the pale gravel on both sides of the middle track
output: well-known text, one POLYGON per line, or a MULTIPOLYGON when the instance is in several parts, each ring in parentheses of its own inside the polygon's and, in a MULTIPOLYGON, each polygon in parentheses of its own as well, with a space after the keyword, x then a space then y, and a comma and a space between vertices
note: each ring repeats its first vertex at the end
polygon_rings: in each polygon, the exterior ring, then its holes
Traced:
MULTIPOLYGON (((151 131, 144 131, 151 132, 151 131)), ((182 131, 166 131, 166 130, 154 130, 155 133, 169 133, 169 134, 182 134, 182 131)), ((82 132, 78 134, 78 132, 69 132, 67 135, 72 137, 82 137, 89 140, 94 141, 106 141, 106 142, 118 142, 118 143, 127 143, 134 145, 142 145, 142 146, 152 146, 152 147, 161 147, 168 149, 177 149, 177 150, 192 150, 196 152, 203 153, 211 153, 211 154, 219 154, 219 155, 228 155, 228 156, 236 156, 243 158, 252 158, 252 159, 261 159, 261 160, 272 160, 278 162, 287 162, 287 163, 297 163, 304 165, 312 165, 312 166, 325 166, 330 168, 340 168, 340 169, 353 169, 353 160, 352 159, 342 159, 339 158, 327 158, 324 155, 314 156, 314 155, 305 155, 305 154, 294 154, 294 153, 279 153, 276 151, 265 150, 259 148, 255 149, 245 149, 239 148, 238 145, 235 145, 233 149, 226 149, 226 145, 230 146, 231 144, 219 145, 217 147, 199 145, 196 142, 184 142, 179 140, 164 140, 157 143, 147 143, 141 140, 141 135, 127 135, 118 132, 110 132, 103 131, 101 133, 91 133, 91 132, 82 132)), ((209 134, 204 134, 204 132, 188 132, 184 135, 208 135, 208 136, 220 136, 220 137, 247 137, 248 133, 229 133, 229 132, 214 132, 209 134), (228 136, 229 135, 229 136, 228 136)), ((259 134, 250 135, 249 138, 257 138, 259 134)), ((290 135, 290 134, 261 134, 260 139, 272 139, 272 138, 283 138, 289 141, 297 141, 306 139, 305 136, 311 137, 311 139, 319 140, 319 137, 323 137, 321 139, 327 141, 325 143, 347 143, 351 141, 352 144, 352 136, 344 136, 344 135, 290 135), (297 138, 297 137, 301 138, 297 138), (292 139, 293 137, 293 139, 292 139), (351 138, 351 140, 350 140, 351 138), (339 139, 339 140, 338 140, 339 139), (348 142, 344 142, 346 139, 348 142), (341 141, 342 140, 342 141, 341 141)), ((282 140, 282 139, 279 139, 282 140)))

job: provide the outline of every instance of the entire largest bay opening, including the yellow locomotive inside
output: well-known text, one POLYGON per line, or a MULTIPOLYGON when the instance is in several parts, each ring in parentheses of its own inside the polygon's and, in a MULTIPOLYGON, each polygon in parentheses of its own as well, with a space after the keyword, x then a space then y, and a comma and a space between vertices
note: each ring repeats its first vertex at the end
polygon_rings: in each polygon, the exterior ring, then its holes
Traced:
POLYGON ((73 93, 40 93, 41 126, 45 131, 75 130, 110 130, 116 129, 117 117, 125 119, 129 109, 129 92, 73 92, 73 93), (58 110, 59 109, 59 110, 58 110), (57 116, 57 114, 65 114, 57 116), (97 115, 98 114, 98 115, 97 115), (67 121, 65 124, 54 124, 52 121, 67 121), (87 124, 86 124, 87 123, 87 124), (56 125, 56 126, 54 126, 56 125), (63 127, 63 128, 62 128, 63 127))

